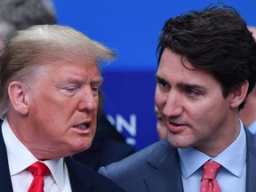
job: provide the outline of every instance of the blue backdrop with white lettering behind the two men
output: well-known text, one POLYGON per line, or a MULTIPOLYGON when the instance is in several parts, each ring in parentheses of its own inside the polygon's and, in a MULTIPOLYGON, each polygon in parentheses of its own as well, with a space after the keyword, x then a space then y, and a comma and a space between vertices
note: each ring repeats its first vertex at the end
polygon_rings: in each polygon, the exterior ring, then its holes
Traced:
MULTIPOLYGON (((103 68, 104 111, 127 141, 140 149, 158 140, 154 114, 156 45, 164 21, 211 0, 53 0, 59 24, 76 28, 116 51, 103 68)), ((223 0, 256 26, 255 0, 223 0)))

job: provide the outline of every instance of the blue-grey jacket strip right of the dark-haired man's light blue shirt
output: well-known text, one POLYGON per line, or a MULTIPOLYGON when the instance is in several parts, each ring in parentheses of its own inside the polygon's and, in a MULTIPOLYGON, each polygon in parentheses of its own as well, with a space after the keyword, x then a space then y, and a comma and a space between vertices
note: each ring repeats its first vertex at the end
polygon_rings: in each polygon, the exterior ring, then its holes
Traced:
POLYGON ((245 129, 247 142, 246 192, 256 191, 256 136, 245 129))

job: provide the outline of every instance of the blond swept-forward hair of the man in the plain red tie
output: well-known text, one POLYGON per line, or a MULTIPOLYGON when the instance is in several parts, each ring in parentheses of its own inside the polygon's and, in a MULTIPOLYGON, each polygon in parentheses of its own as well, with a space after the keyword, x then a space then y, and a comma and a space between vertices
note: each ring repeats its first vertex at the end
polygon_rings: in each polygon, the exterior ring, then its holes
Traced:
POLYGON ((28 78, 31 68, 49 61, 76 56, 99 63, 115 59, 115 53, 74 28, 60 25, 36 25, 18 31, 5 45, 0 57, 0 117, 8 110, 8 85, 28 78))

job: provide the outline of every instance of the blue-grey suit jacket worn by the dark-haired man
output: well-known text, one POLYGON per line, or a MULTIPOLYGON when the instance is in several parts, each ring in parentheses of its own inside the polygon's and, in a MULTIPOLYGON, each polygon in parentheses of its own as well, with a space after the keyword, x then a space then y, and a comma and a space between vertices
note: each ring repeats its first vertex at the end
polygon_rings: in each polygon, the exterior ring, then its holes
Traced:
MULTIPOLYGON (((256 191, 256 136, 245 129, 247 142, 246 191, 256 191)), ((166 139, 100 168, 100 173, 128 192, 183 192, 177 148, 166 139)))

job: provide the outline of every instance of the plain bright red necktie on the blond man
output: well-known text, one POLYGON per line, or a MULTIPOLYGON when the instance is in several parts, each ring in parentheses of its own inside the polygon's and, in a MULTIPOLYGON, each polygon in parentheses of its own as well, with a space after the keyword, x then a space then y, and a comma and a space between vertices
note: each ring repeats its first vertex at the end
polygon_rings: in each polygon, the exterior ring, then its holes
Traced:
POLYGON ((36 162, 28 167, 28 171, 34 176, 28 192, 44 192, 44 175, 50 173, 49 168, 41 162, 36 162))

